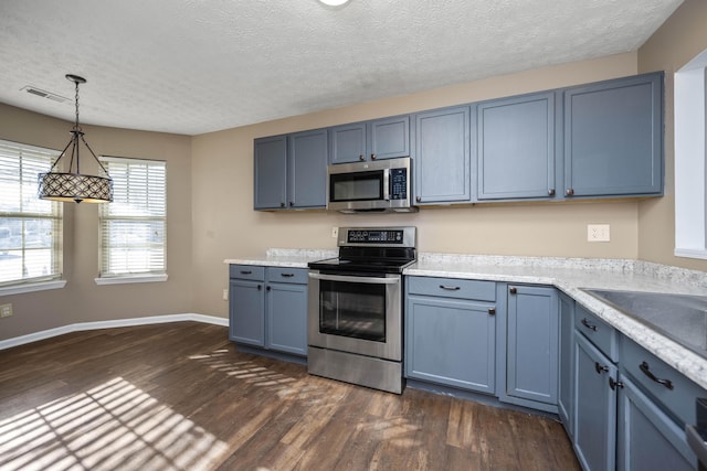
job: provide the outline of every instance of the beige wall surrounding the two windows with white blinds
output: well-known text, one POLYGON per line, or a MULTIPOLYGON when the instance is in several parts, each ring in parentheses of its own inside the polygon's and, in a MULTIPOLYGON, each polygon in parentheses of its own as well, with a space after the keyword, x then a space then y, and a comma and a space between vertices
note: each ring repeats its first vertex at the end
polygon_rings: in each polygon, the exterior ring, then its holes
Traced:
MULTIPOLYGON (((63 149, 72 124, 0 104, 0 139, 63 149)), ((168 162, 169 280, 96 286, 98 207, 64 204, 64 289, 2 297, 14 315, 0 320, 0 340, 74 322, 190 312, 191 138, 84 126, 95 152, 168 162)), ((83 160, 82 160, 83 161, 83 160)), ((83 165, 82 165, 83 167, 83 165)))

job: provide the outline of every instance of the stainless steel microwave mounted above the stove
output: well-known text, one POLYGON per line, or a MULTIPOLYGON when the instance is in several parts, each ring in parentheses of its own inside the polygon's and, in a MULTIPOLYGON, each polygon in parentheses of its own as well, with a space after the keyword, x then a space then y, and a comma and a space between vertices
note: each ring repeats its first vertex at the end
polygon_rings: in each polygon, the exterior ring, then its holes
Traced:
POLYGON ((410 213, 412 161, 401 159, 339 163, 327 170, 327 208, 342 213, 410 213))

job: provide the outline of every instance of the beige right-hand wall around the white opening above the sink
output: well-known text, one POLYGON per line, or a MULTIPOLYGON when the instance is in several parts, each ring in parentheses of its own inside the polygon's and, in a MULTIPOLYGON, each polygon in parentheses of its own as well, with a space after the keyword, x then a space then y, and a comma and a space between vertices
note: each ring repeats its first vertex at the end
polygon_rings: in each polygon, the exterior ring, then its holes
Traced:
POLYGON ((674 257, 673 74, 707 50, 707 1, 686 0, 639 51, 639 71, 665 71, 665 197, 639 205, 639 258, 707 271, 707 260, 674 257))

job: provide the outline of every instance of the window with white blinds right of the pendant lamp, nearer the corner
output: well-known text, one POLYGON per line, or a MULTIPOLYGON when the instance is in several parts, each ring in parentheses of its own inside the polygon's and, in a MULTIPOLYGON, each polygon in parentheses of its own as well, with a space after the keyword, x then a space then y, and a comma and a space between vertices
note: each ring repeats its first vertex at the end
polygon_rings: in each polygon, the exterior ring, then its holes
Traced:
POLYGON ((103 157, 113 179, 113 203, 102 204, 101 278, 96 282, 159 281, 167 265, 166 164, 103 157), (123 281, 119 281, 119 280, 123 281))

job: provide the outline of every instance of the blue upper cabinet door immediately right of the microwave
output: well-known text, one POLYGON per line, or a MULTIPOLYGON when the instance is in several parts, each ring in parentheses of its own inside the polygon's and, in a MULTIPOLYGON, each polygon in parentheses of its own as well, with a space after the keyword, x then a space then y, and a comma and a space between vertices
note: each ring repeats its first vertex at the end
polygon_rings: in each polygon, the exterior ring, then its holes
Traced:
POLYGON ((471 201, 469 116, 468 106, 414 115, 418 204, 471 201))

